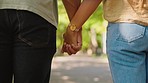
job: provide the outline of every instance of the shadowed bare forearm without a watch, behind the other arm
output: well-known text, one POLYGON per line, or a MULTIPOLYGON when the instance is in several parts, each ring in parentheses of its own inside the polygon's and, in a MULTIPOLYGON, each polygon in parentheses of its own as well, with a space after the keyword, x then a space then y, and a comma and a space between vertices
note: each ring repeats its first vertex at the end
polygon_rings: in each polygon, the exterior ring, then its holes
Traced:
POLYGON ((71 21, 71 19, 73 18, 73 16, 77 12, 81 4, 81 0, 62 0, 62 1, 65 6, 69 20, 71 21))

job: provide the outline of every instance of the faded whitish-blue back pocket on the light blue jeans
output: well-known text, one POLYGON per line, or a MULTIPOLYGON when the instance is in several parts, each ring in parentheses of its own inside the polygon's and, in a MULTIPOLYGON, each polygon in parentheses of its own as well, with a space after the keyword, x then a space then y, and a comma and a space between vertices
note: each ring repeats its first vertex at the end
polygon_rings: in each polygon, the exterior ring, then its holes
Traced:
POLYGON ((117 40, 132 42, 144 36, 145 27, 138 24, 121 23, 118 25, 117 40))

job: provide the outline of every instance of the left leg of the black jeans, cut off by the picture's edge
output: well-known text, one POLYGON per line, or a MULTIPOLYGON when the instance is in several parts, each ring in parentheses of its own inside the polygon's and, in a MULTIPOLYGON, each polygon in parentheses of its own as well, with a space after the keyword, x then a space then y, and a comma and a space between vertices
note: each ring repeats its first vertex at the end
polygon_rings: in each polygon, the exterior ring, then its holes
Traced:
POLYGON ((7 17, 0 10, 0 83, 12 83, 12 36, 7 17))

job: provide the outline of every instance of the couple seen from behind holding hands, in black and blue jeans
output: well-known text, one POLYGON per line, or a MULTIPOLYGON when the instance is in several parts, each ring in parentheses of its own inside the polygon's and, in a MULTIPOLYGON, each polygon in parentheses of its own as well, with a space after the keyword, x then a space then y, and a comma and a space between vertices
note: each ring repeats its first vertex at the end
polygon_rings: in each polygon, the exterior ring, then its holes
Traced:
MULTIPOLYGON (((0 0, 0 83, 12 83, 13 76, 14 83, 49 83, 57 1, 0 0)), ((70 20, 63 53, 81 49, 82 25, 102 2, 113 83, 148 83, 148 0, 62 1, 70 20)))

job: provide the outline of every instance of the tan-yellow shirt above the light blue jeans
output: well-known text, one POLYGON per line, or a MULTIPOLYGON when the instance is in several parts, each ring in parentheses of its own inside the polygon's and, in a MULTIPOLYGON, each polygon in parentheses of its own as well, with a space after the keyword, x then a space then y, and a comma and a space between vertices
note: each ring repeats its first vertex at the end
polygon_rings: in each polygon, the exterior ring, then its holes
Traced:
POLYGON ((148 0, 104 0, 104 18, 148 26, 148 0))

